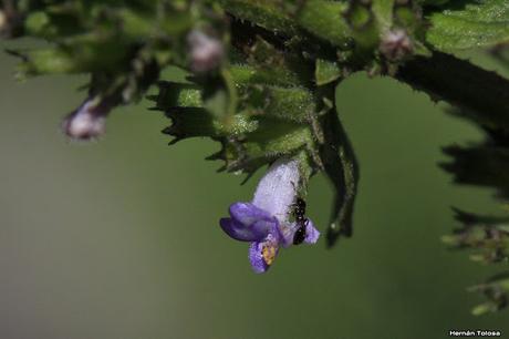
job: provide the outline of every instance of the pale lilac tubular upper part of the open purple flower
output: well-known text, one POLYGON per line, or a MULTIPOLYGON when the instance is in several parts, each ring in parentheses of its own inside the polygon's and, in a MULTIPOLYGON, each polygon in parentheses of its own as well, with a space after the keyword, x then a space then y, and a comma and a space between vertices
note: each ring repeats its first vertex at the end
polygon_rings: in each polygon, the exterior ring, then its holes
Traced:
POLYGON ((278 220, 287 222, 295 201, 300 172, 298 161, 281 158, 274 162, 260 179, 252 203, 278 220))

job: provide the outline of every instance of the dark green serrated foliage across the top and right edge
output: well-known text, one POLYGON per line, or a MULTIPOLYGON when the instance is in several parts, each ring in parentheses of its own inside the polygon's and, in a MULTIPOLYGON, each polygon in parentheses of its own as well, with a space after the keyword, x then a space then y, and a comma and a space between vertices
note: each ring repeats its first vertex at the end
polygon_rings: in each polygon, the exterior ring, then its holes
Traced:
MULTIPOLYGON (((482 129, 485 143, 446 147, 451 160, 442 166, 457 183, 508 198, 509 82, 444 53, 496 47, 503 59, 508 1, 24 0, 0 9, 2 37, 46 41, 9 50, 20 58, 20 78, 89 74, 84 102, 106 106, 103 115, 155 85, 149 99, 170 120, 163 131, 170 144, 219 142, 208 160, 222 161, 220 171, 249 177, 281 156, 295 157, 303 195, 323 171, 335 189, 329 246, 352 235, 360 173, 334 91, 354 72, 404 81, 482 129)), ((461 227, 445 238, 450 245, 478 250, 481 261, 507 260, 506 217, 457 210, 457 219, 461 227)), ((476 287, 489 302, 475 314, 502 308, 508 289, 507 277, 476 287)))

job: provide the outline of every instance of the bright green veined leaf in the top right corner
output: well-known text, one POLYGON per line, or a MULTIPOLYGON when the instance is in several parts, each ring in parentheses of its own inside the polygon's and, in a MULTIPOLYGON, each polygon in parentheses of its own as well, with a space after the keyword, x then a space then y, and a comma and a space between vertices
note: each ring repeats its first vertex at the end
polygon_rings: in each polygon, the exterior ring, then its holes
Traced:
MULTIPOLYGON (((458 1, 459 2, 459 1, 458 1)), ((429 17, 428 43, 450 52, 509 41, 509 1, 463 1, 429 17)))

